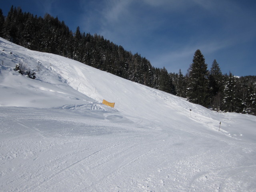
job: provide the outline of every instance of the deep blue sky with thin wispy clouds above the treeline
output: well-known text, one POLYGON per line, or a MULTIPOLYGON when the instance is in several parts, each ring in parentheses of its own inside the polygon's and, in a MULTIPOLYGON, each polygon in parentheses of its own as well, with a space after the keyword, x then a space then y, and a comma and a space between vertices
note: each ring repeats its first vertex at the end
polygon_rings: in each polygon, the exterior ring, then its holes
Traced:
POLYGON ((168 72, 186 74, 200 49, 208 69, 216 59, 222 73, 256 75, 254 0, 10 0, 4 16, 12 5, 100 34, 168 72))

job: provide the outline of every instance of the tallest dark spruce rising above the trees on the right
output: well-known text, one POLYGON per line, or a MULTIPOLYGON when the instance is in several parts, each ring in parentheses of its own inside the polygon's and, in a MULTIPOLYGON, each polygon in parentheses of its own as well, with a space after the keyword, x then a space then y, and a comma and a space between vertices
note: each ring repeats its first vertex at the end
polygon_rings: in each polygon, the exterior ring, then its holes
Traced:
POLYGON ((207 64, 203 54, 198 49, 194 54, 188 75, 188 101, 205 107, 209 106, 208 76, 207 64))

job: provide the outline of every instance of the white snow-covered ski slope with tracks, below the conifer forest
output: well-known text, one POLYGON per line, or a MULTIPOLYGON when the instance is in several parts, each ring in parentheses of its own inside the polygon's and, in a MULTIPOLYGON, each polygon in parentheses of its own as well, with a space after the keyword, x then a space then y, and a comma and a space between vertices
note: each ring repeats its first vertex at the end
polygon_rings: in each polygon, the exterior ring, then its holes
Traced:
POLYGON ((255 192, 255 181, 255 116, 0 38, 0 191, 255 192))

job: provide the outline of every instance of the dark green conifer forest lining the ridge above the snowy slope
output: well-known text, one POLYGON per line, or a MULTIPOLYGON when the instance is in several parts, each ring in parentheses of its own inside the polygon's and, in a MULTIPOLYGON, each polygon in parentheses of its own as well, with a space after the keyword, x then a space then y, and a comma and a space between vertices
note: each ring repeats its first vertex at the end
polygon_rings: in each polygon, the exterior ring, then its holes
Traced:
POLYGON ((200 104, 215 111, 256 115, 256 76, 240 78, 222 74, 216 60, 210 70, 196 50, 186 75, 155 68, 140 54, 132 54, 103 36, 72 32, 64 21, 44 18, 11 7, 7 16, 0 9, 0 36, 31 50, 58 54, 200 104))

